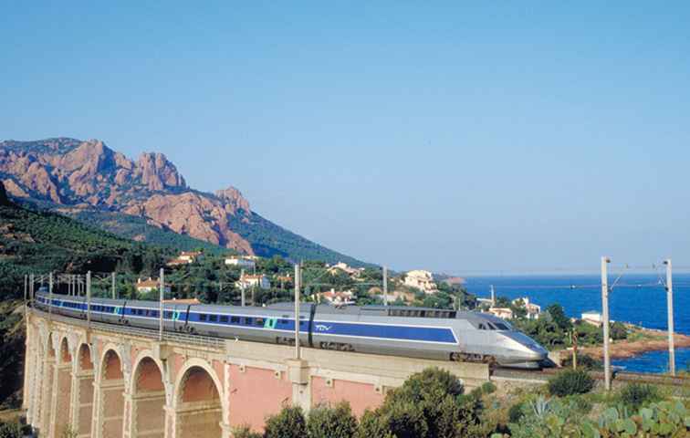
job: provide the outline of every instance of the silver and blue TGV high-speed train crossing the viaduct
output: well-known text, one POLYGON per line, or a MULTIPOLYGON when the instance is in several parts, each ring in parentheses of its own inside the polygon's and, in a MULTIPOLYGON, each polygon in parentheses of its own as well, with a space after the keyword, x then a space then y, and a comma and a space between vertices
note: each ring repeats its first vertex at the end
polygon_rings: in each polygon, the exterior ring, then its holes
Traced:
MULTIPOLYGON (((36 306, 72 318, 87 318, 87 298, 38 291, 36 306)), ((159 328, 155 301, 91 299, 91 320, 138 328, 159 328)), ((547 350, 492 315, 401 306, 333 307, 305 303, 299 309, 299 342, 338 349, 435 360, 495 363, 539 368, 547 350)), ((294 344, 295 308, 163 304, 163 329, 217 338, 294 344)))

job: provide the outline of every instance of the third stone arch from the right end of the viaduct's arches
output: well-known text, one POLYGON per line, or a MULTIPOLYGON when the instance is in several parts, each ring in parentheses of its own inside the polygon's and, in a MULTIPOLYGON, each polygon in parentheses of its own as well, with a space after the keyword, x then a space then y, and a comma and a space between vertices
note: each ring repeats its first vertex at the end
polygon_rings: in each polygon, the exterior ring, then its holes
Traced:
POLYGON ((125 380, 122 359, 118 350, 107 346, 99 360, 99 412, 97 436, 115 438, 122 436, 124 419, 125 380))

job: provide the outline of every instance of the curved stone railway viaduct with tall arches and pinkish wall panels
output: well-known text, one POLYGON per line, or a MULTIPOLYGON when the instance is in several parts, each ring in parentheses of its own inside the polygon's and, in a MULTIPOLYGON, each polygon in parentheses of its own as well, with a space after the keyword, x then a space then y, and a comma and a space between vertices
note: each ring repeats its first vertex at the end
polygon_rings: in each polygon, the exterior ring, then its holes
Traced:
POLYGON ((360 415, 414 372, 436 366, 467 388, 486 365, 385 357, 123 328, 26 313, 24 404, 41 437, 223 437, 260 431, 286 404, 346 400, 360 415))

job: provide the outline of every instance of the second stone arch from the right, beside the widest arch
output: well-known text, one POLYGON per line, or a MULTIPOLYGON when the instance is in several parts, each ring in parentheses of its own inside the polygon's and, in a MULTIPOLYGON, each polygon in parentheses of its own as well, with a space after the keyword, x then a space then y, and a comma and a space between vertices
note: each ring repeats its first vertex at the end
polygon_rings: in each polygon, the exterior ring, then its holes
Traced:
POLYGON ((131 373, 131 437, 165 435, 166 385, 160 360, 150 350, 137 356, 131 373))

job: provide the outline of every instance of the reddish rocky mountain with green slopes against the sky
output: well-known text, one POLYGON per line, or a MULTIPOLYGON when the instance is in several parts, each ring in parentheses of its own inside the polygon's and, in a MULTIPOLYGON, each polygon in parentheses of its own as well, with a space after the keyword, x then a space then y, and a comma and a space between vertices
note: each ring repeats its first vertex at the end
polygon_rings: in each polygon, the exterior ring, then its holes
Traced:
MULTIPOLYGON (((362 265, 270 223, 234 187, 215 193, 193 190, 162 153, 142 153, 134 161, 99 140, 0 141, 0 182, 12 197, 78 218, 110 212, 113 223, 138 217, 242 254, 362 265)), ((102 226, 117 232, 111 225, 102 226)))

